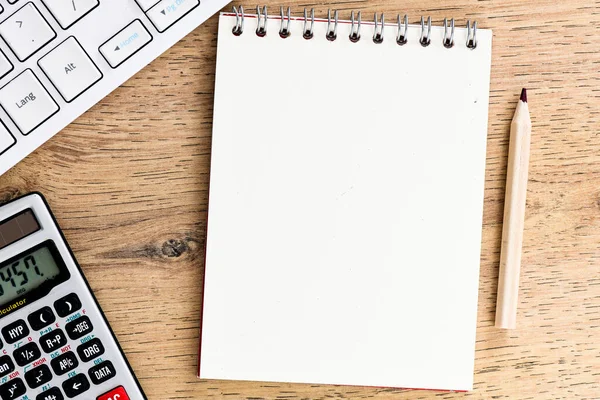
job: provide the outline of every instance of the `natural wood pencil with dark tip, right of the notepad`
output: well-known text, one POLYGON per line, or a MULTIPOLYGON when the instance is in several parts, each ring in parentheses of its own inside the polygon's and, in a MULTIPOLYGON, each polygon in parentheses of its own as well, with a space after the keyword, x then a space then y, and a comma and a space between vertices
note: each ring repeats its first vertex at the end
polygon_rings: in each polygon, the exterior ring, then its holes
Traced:
POLYGON ((530 144, 531 119, 527 104, 527 90, 523 89, 510 125, 502 249, 496 301, 496 327, 502 329, 515 329, 517 322, 530 144))

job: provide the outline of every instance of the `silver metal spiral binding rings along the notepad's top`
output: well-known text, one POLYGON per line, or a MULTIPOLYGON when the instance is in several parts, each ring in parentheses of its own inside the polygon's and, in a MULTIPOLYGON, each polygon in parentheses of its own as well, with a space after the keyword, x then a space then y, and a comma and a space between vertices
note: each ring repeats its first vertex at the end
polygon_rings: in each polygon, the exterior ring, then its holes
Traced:
MULTIPOLYGON (((232 33, 236 36, 240 36, 244 33, 244 8, 242 6, 238 8, 233 7, 233 12, 235 14, 235 26, 231 30, 232 33)), ((284 14, 283 7, 279 9, 281 15, 281 23, 279 27, 279 36, 282 38, 287 38, 291 35, 290 31, 290 22, 292 20, 291 17, 291 9, 287 8, 287 13, 284 14)), ((267 6, 263 6, 262 10, 260 6, 256 7, 256 35, 259 37, 264 37, 267 35, 267 6)), ((361 38, 361 13, 360 11, 357 14, 357 18, 354 18, 354 11, 350 14, 350 34, 348 38, 351 42, 356 43, 361 38)), ((377 13, 375 13, 374 17, 374 29, 373 29, 373 42, 374 43, 383 43, 383 39, 385 37, 385 19, 384 14, 381 14, 381 18, 377 19, 377 13)), ((308 17, 308 13, 306 12, 306 8, 304 9, 304 28, 302 31, 302 37, 304 39, 310 40, 314 37, 314 25, 315 25, 315 9, 312 8, 310 10, 310 18, 308 17)), ((396 43, 400 46, 408 43, 408 15, 404 15, 404 17, 400 18, 400 14, 398 14, 397 19, 397 33, 396 33, 396 43)), ((337 10, 333 11, 333 18, 331 16, 331 10, 327 10, 327 31, 325 33, 325 38, 329 41, 334 41, 337 39, 337 26, 338 26, 338 12, 337 10)), ((444 36, 442 38, 442 45, 450 49, 454 47, 454 18, 450 19, 448 23, 448 19, 444 18, 444 36)), ((431 17, 427 17, 427 23, 425 23, 425 18, 421 17, 421 36, 419 37, 419 43, 423 47, 427 47, 431 44, 431 17)), ((471 25, 471 21, 467 21, 467 40, 465 45, 469 49, 477 48, 477 21, 474 21, 471 25)))

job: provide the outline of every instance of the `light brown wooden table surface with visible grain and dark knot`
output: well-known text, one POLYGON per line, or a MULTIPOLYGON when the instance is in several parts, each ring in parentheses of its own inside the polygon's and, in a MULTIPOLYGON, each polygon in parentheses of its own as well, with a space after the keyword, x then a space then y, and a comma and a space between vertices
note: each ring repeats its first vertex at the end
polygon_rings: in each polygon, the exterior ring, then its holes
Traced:
POLYGON ((600 398, 600 6, 378 0, 319 4, 316 15, 329 7, 340 18, 406 12, 494 30, 473 392, 196 378, 216 17, 0 177, 0 201, 46 195, 150 399, 600 398), (520 308, 518 329, 500 331, 508 129, 521 87, 533 139, 520 308))

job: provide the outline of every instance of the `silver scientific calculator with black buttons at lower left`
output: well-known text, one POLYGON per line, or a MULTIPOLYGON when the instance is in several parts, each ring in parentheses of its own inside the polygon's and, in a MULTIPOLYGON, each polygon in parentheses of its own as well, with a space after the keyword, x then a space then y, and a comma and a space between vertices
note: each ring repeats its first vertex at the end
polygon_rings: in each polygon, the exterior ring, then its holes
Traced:
POLYGON ((0 399, 146 399, 39 193, 0 206, 0 399))

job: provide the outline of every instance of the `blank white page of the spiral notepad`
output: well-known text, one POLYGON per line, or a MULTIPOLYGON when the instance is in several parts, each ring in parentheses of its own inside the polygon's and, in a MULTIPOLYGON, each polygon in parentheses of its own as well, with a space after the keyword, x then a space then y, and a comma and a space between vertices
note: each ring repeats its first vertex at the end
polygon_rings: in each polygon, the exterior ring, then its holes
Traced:
POLYGON ((470 390, 492 32, 219 21, 201 378, 470 390))

